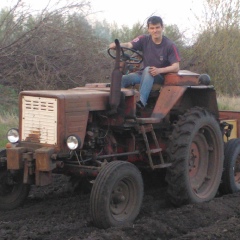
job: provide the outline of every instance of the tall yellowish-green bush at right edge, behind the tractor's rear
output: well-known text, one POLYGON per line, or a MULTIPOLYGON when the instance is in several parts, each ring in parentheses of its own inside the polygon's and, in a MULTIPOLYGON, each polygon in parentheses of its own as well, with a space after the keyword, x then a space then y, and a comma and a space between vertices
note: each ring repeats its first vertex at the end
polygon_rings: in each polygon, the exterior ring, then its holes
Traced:
POLYGON ((240 1, 206 0, 202 33, 192 46, 192 70, 208 73, 218 92, 239 94, 240 1))

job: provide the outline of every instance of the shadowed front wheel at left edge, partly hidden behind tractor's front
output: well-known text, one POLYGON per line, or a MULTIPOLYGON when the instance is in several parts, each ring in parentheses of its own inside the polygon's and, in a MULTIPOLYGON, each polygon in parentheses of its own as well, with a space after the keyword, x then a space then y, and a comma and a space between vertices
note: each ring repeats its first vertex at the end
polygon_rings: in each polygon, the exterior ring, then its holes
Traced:
POLYGON ((0 169, 0 209, 11 210, 21 206, 30 191, 30 185, 23 183, 20 171, 10 172, 0 169))

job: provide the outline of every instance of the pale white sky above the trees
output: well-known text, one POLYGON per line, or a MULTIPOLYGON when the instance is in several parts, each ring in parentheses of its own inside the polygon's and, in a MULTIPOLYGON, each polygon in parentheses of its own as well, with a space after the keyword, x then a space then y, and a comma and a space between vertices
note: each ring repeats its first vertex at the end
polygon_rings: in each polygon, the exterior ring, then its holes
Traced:
MULTIPOLYGON (((0 0, 0 7, 8 6, 17 0, 0 0)), ((33 9, 46 6, 49 0, 23 0, 33 9)), ((51 0, 52 4, 54 1, 51 0)), ((69 0, 66 0, 69 1, 69 0)), ((117 23, 118 26, 132 27, 134 23, 146 23, 151 15, 161 16, 165 25, 176 24, 180 31, 188 35, 197 28, 195 15, 203 10, 203 0, 88 0, 91 2, 94 17, 105 19, 108 23, 117 23), (145 3, 144 3, 145 2, 145 3), (144 3, 144 4, 143 4, 144 3)), ((79 0, 81 2, 81 0, 79 0)))

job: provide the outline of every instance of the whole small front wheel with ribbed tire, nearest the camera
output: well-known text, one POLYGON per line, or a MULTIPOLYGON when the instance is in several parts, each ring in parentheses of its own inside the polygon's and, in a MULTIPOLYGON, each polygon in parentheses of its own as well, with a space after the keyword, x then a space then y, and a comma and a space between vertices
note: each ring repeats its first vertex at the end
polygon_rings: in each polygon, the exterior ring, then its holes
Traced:
POLYGON ((95 226, 109 228, 132 222, 143 199, 143 180, 131 163, 113 161, 98 174, 91 191, 90 213, 95 226))

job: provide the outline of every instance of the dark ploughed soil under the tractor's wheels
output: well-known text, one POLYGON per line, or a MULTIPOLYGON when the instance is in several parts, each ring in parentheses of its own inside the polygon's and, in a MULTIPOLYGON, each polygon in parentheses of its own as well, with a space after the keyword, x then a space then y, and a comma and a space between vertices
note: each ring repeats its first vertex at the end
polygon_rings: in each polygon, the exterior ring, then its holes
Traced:
POLYGON ((33 187, 22 208, 0 212, 0 239, 207 240, 239 239, 240 193, 174 208, 166 187, 145 188, 134 224, 98 229, 89 216, 89 194, 69 192, 66 177, 48 187, 33 187))

